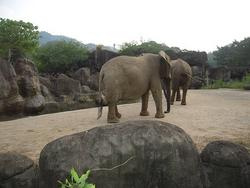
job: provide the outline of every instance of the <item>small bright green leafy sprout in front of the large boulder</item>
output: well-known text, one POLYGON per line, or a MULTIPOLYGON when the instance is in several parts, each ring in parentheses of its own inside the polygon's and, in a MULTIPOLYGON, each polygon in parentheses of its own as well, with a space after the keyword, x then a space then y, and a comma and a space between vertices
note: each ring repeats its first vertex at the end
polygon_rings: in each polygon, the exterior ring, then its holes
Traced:
POLYGON ((95 185, 87 183, 90 174, 88 170, 85 174, 82 174, 81 177, 78 176, 74 168, 70 171, 71 181, 68 179, 65 180, 65 183, 58 181, 61 184, 61 188, 95 188, 95 185))

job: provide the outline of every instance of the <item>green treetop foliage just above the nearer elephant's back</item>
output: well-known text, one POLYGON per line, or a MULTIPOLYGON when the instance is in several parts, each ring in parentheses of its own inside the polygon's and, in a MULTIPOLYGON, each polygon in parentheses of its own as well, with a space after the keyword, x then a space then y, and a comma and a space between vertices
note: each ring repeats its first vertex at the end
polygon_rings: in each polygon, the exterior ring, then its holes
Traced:
POLYGON ((142 53, 158 53, 159 51, 170 50, 165 44, 158 44, 155 41, 143 42, 138 44, 137 42, 124 43, 121 47, 120 53, 122 55, 137 56, 142 53))

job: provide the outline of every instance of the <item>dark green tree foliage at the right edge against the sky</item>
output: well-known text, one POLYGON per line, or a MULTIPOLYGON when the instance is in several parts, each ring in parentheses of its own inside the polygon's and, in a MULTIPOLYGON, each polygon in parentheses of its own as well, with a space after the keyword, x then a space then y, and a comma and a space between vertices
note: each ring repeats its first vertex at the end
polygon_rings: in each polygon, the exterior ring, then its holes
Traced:
POLYGON ((250 38, 218 48, 214 52, 218 65, 250 66, 250 38))

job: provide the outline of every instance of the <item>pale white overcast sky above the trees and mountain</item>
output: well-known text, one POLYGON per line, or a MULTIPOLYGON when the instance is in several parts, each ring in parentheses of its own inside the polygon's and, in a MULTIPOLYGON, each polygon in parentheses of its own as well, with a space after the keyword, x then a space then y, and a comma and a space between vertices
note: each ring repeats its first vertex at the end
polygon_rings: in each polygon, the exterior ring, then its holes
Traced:
POLYGON ((109 46, 154 40, 210 52, 250 37, 249 0, 0 0, 0 17, 109 46))

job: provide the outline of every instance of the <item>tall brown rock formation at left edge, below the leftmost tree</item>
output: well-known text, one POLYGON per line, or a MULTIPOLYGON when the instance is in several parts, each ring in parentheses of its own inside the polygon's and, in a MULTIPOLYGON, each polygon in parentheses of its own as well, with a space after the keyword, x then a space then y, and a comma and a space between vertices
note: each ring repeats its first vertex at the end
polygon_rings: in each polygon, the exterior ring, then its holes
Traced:
POLYGON ((38 72, 32 62, 17 59, 14 68, 10 62, 0 59, 0 114, 16 115, 42 110, 38 72))

